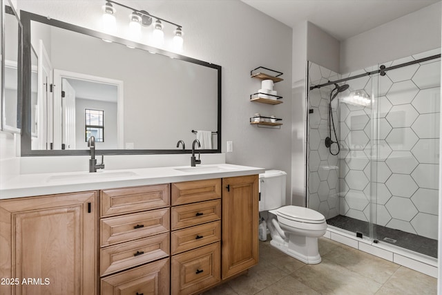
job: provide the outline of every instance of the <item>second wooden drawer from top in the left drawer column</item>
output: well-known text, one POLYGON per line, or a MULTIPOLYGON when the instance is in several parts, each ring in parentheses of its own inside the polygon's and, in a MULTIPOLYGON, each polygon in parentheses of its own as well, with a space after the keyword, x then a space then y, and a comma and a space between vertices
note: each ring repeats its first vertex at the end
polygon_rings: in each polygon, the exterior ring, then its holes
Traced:
POLYGON ((169 231, 169 208, 102 218, 101 245, 144 238, 169 231))

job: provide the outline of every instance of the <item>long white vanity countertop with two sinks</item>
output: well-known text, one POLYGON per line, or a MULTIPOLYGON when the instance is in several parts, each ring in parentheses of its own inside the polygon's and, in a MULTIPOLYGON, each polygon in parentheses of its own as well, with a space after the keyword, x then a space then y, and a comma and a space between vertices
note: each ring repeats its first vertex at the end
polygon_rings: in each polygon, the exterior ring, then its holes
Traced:
POLYGON ((226 178, 264 173, 265 169, 233 164, 171 166, 145 169, 104 170, 96 173, 35 173, 20 174, 0 183, 0 200, 162 184, 189 180, 226 178))

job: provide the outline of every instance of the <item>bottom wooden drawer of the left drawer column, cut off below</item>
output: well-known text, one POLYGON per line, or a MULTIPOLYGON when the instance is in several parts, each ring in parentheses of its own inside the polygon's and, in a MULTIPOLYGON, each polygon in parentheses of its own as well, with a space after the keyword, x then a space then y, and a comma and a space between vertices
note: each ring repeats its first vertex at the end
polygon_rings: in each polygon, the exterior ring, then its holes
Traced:
POLYGON ((102 278, 103 295, 169 294, 169 258, 102 278))

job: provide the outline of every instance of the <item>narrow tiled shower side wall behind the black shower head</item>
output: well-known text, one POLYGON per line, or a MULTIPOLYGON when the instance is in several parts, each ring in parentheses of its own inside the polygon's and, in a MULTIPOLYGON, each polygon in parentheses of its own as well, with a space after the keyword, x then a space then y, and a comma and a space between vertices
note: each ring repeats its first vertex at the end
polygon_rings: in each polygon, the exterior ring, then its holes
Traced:
MULTIPOLYGON (((337 73, 309 62, 309 85, 323 84, 336 79, 339 79, 337 73)), ((332 89, 333 86, 325 86, 309 92, 309 146, 307 149, 309 198, 307 206, 319 211, 325 218, 332 218, 339 214, 338 156, 332 155, 325 147, 325 138, 329 136, 329 94, 332 89)), ((336 99, 332 108, 339 138, 337 106, 336 99)), ((332 135, 333 140, 334 138, 332 135)), ((336 153, 336 144, 332 145, 332 151, 336 153)))

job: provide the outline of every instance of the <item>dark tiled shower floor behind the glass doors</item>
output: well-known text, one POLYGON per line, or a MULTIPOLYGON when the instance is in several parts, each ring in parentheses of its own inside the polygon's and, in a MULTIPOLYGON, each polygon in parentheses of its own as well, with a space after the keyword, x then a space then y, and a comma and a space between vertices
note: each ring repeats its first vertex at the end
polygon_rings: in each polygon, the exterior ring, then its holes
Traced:
MULTIPOLYGON (((327 224, 355 233, 358 231, 364 236, 369 236, 369 223, 366 221, 338 215, 334 218, 327 219, 327 224)), ((398 229, 381 227, 380 225, 376 225, 376 238, 387 244, 437 258, 437 240, 431 238, 410 234, 398 229), (385 240, 385 238, 387 238, 387 240, 385 240), (394 242, 393 240, 396 241, 394 242)))

